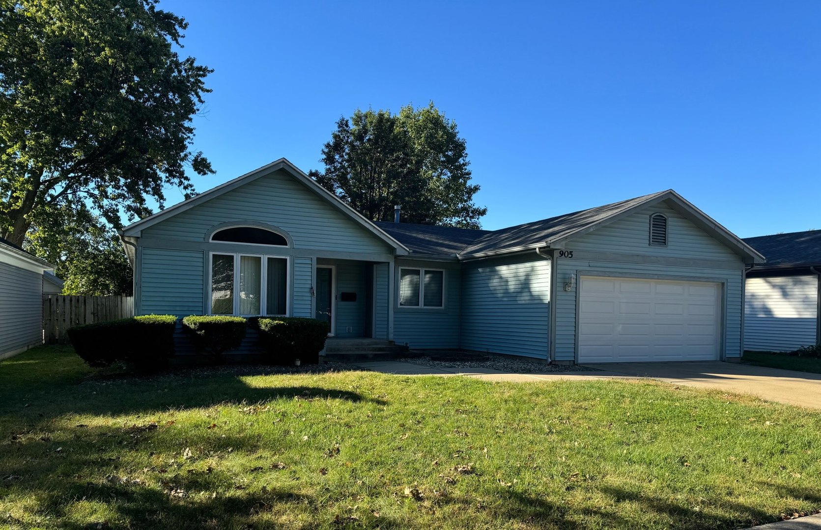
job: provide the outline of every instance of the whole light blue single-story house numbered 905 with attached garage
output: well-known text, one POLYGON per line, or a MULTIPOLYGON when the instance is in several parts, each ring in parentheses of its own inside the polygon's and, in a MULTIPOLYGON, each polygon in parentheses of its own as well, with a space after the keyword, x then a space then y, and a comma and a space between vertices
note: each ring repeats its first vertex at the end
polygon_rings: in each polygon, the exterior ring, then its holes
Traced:
POLYGON ((672 190, 498 231, 374 223, 284 158, 121 237, 135 314, 565 363, 740 357, 744 269, 764 261, 672 190))

